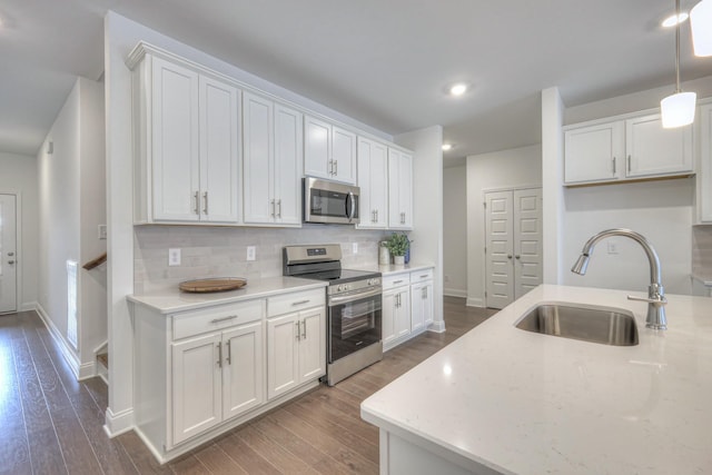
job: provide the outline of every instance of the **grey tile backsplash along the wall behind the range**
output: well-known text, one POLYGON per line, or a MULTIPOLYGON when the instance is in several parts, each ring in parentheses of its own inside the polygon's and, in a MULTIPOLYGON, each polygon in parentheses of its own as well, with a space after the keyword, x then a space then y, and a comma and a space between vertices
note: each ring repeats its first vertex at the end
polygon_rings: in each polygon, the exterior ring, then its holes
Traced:
POLYGON ((298 229, 199 226, 134 228, 134 291, 137 295, 176 288, 205 277, 249 279, 281 275, 281 248, 299 244, 340 244, 344 267, 378 265, 378 241, 388 232, 352 226, 304 225, 298 229), (353 253, 353 243, 358 253, 353 253), (255 246, 256 259, 247 260, 255 246), (179 248, 181 263, 168 266, 168 249, 179 248))

